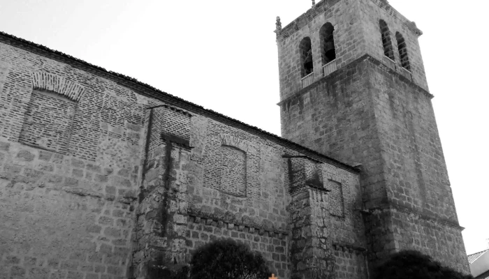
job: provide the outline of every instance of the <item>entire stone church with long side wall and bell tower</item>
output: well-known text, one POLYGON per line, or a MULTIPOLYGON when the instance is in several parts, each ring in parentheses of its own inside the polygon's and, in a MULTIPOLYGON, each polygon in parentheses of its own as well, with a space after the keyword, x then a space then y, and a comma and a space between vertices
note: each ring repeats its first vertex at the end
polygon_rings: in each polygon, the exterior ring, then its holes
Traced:
POLYGON ((0 33, 0 278, 161 278, 216 239, 280 279, 469 273, 416 24, 323 0, 275 33, 282 137, 0 33))

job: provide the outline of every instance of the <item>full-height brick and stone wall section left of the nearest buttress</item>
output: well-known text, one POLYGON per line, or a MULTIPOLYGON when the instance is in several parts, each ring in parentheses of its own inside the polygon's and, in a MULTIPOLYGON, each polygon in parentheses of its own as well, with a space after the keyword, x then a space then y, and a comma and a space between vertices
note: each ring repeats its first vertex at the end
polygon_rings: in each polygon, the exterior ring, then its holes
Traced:
POLYGON ((148 100, 0 43, 0 278, 127 278, 148 100))

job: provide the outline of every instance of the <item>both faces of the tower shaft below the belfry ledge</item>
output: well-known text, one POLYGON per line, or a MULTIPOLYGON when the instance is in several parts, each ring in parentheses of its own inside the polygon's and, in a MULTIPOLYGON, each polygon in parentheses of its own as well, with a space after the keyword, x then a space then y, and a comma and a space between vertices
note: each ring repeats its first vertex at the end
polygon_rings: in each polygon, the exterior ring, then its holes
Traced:
POLYGON ((467 272, 430 98, 365 55, 280 103, 282 133, 328 156, 363 164, 373 263, 391 251, 414 248, 467 272))

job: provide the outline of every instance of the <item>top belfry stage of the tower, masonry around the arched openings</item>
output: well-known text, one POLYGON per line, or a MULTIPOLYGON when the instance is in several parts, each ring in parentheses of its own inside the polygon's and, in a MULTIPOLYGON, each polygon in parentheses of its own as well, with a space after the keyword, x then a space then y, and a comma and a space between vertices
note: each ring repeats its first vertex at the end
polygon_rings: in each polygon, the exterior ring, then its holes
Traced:
MULTIPOLYGON (((343 68, 360 57, 369 55, 386 64, 400 75, 412 80, 425 91, 428 90, 423 60, 418 44, 421 30, 414 22, 407 20, 386 1, 359 0, 338 1, 323 0, 316 3, 306 13, 300 15, 286 27, 276 31, 279 47, 280 93, 281 100, 293 96, 303 87, 311 83, 301 81, 302 76, 297 69, 300 52, 297 46, 302 38, 309 37, 312 42, 312 63, 314 76, 309 80, 317 82, 322 77, 333 73, 334 68, 343 68), (402 58, 394 52, 393 59, 386 60, 382 50, 379 21, 383 20, 393 30, 391 39, 396 42, 396 33, 406 42, 406 54, 411 65, 410 70, 402 66, 402 58), (321 53, 320 29, 323 24, 333 25, 333 37, 336 45, 335 66, 323 69, 323 54, 321 53), (333 69, 332 69, 333 67, 333 69)), ((397 47, 397 45, 396 45, 397 47)))

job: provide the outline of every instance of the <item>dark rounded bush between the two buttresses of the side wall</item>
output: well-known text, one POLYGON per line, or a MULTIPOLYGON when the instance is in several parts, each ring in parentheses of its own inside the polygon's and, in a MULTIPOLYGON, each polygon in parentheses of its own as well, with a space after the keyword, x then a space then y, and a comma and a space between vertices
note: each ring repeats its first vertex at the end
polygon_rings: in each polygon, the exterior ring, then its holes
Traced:
POLYGON ((270 276, 260 254, 231 239, 201 246, 190 262, 191 279, 263 279, 270 276))

